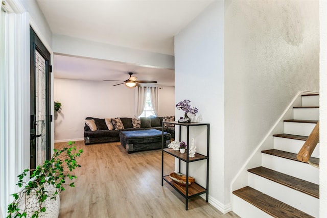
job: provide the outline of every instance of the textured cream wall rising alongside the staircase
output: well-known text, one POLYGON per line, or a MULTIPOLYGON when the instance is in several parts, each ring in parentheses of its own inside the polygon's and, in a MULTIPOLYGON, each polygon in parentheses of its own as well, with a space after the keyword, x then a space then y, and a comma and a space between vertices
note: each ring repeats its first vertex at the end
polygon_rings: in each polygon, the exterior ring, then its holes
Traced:
POLYGON ((225 192, 300 90, 319 91, 318 1, 225 3, 225 192))

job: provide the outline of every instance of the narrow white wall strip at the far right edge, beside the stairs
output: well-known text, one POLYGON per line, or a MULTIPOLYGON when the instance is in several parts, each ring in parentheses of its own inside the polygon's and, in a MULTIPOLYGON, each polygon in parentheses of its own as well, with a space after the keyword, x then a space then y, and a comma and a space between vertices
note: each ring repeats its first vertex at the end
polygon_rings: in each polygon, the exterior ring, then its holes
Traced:
POLYGON ((327 214, 327 2, 320 1, 320 217, 327 214))

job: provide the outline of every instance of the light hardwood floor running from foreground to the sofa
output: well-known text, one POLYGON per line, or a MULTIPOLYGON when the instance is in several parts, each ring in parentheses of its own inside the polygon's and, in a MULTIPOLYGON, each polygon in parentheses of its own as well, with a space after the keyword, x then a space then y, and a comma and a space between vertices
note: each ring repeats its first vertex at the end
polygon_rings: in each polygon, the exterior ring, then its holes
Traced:
MULTIPOLYGON (((76 170, 76 187, 60 193, 60 218, 239 217, 222 214, 201 197, 189 200, 186 211, 184 198, 166 182, 161 186, 161 150, 128 154, 120 142, 75 145, 84 151, 78 159, 82 167, 76 170)), ((173 171, 172 156, 165 154, 164 168, 173 171)))

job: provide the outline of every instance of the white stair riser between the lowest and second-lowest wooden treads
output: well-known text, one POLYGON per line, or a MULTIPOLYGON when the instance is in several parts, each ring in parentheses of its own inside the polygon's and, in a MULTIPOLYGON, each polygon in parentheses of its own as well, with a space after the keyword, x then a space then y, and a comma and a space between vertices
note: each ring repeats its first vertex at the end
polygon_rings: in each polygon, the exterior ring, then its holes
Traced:
POLYGON ((248 172, 248 185, 314 217, 319 216, 319 199, 248 172))

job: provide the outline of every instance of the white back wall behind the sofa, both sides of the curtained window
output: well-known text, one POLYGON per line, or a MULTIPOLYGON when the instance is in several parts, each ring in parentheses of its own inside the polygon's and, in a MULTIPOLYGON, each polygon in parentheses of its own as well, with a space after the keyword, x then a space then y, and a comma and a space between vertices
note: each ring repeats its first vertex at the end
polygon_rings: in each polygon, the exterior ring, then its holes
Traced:
MULTIPOLYGON (((134 117, 134 89, 103 81, 55 79, 55 141, 83 140, 85 117, 134 117)), ((174 114, 174 88, 159 89, 159 116, 174 114)))

